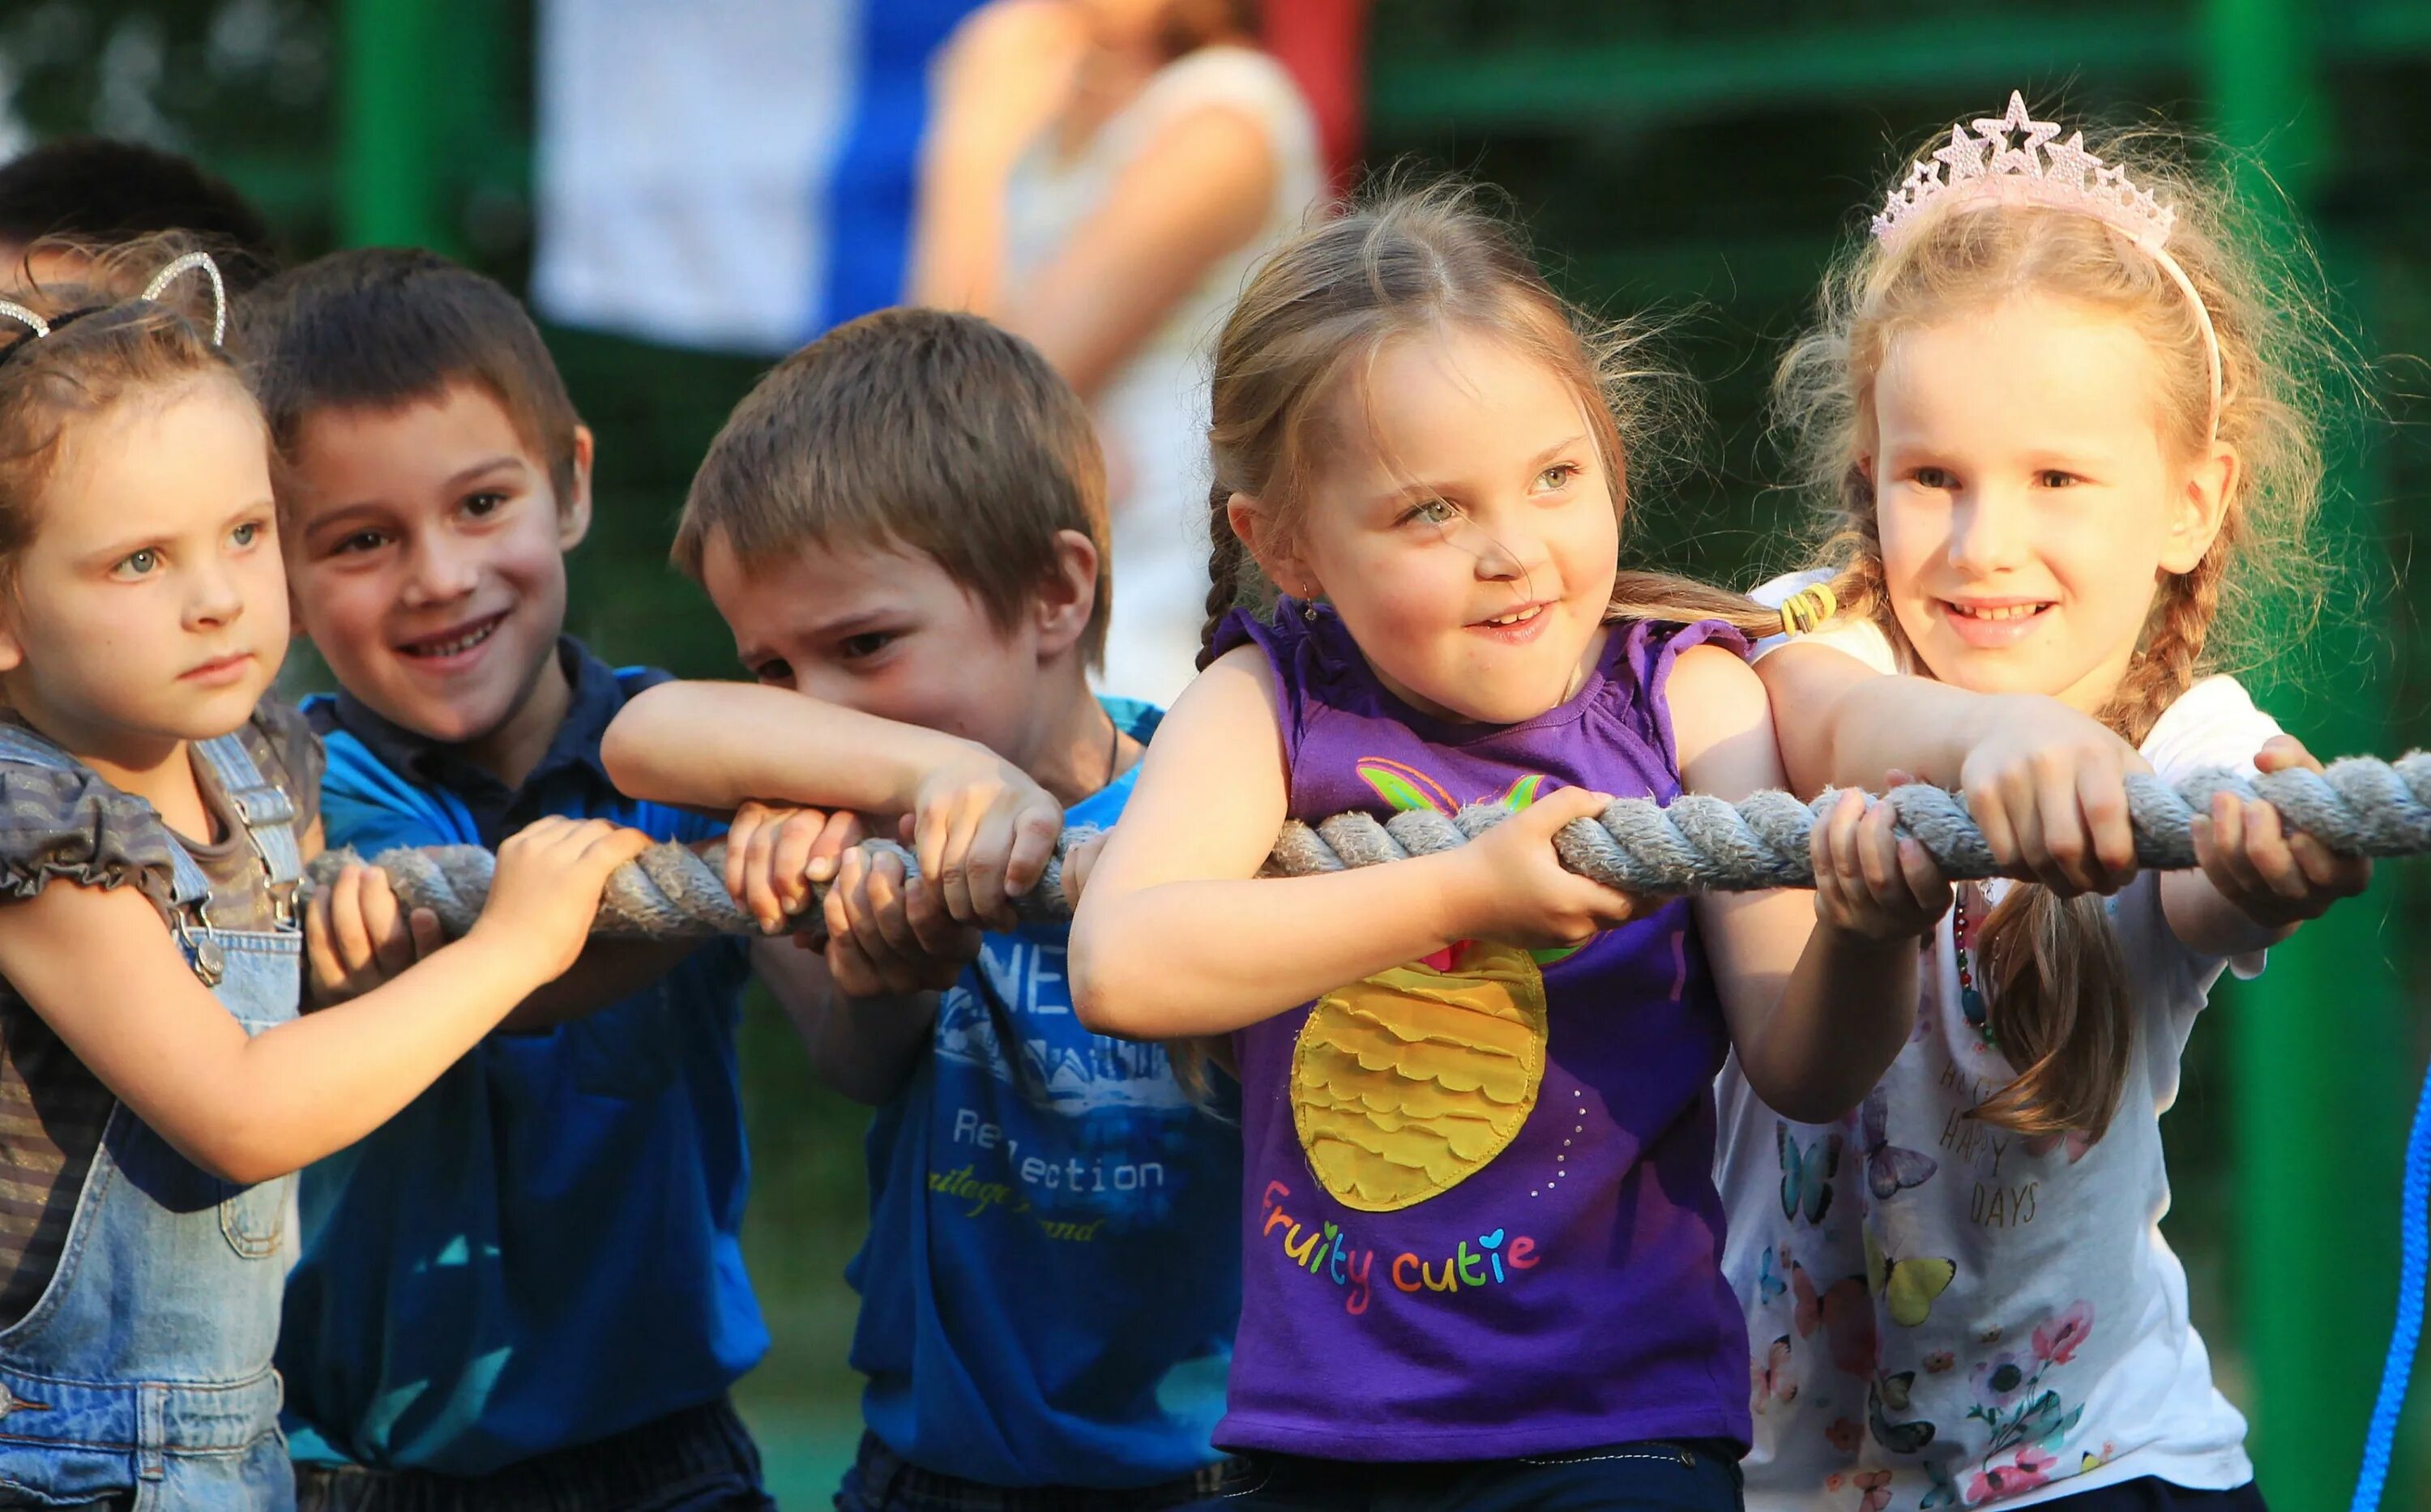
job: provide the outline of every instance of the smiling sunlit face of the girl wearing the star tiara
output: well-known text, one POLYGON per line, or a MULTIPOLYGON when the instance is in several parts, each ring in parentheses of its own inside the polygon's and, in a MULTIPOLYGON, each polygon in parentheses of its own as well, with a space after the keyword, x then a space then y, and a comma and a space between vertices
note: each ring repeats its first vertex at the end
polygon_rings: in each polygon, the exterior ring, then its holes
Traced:
POLYGON ((2217 515, 2171 457, 2151 348, 2020 297, 1891 338, 1874 518, 1899 627, 1933 676, 2098 710, 2164 571, 2217 515))

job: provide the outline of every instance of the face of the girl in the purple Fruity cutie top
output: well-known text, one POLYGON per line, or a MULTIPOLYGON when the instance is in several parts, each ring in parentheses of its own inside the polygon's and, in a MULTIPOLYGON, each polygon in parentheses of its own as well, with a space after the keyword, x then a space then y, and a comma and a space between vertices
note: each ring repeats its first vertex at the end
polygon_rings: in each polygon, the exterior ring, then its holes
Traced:
POLYGON ((1281 581, 1320 588, 1425 712, 1512 724, 1563 703, 1619 562, 1617 484, 1578 394, 1454 328, 1376 352, 1332 399, 1330 433, 1281 581))

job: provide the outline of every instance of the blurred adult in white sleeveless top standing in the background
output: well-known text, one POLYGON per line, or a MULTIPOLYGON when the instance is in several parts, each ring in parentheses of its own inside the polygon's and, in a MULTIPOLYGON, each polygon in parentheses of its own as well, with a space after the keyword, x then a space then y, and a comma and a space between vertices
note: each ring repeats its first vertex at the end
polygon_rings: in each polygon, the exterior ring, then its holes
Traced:
POLYGON ((1206 617, 1206 345, 1322 199, 1252 0, 994 0, 946 44, 909 299, 1019 331, 1089 401, 1113 501, 1101 686, 1169 703, 1206 617))

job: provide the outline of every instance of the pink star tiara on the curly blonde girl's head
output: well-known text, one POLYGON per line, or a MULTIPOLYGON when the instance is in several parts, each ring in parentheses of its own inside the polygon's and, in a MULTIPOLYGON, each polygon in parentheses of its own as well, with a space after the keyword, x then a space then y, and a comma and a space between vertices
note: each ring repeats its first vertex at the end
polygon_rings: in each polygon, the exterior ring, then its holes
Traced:
POLYGON ((2168 255, 2168 233, 2178 211, 2127 182, 2125 168, 2113 168, 2086 151, 2086 134, 2059 141, 2059 126, 2025 114, 2025 95, 2008 92, 2008 114, 1976 117, 1974 131, 1950 126, 1950 141, 1908 165, 1908 177, 1891 190, 1874 216, 1874 241, 1899 248, 1918 224, 1938 209, 1972 211, 2001 204, 2032 204, 2088 214, 2134 241, 2195 306, 2202 345, 2212 365, 2212 435, 2220 435, 2220 333, 2205 309, 2195 280, 2168 255))

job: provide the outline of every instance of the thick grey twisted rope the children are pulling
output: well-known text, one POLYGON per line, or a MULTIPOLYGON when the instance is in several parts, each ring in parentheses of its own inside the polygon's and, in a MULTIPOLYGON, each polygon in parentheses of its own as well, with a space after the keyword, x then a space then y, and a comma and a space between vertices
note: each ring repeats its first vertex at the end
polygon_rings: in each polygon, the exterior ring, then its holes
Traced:
MULTIPOLYGON (((2280 812, 2288 829, 2300 829, 2348 856, 2431 851, 2431 754, 2414 751, 2399 761, 2348 756, 2331 763, 2329 773, 2278 771, 2254 778, 2198 771, 2176 785, 2134 773, 2127 778, 2127 817, 2134 826, 2137 863, 2151 870, 2195 865, 2188 822, 2210 809, 2215 792, 2261 797, 2280 812)), ((1799 802, 1787 792, 1758 792, 1724 802, 1687 792, 1670 805, 1619 797, 1600 819, 1566 824, 1553 836, 1553 848, 1566 868, 1624 892, 1811 887, 1806 834, 1838 797, 1823 792, 1814 802, 1799 802)), ((1967 814, 1967 802, 1955 792, 1908 785, 1894 788, 1884 802, 1899 812, 1899 834, 1916 839, 1952 880, 2023 875, 2003 873, 1984 844, 1984 831, 1967 814)), ((1502 805, 1471 805, 1459 814, 1422 809, 1383 822, 1371 814, 1335 814, 1315 826, 1291 822, 1267 858, 1267 875, 1298 878, 1429 856, 1476 839, 1502 819, 1510 819, 1502 805)), ((1062 856, 1065 846, 1079 844, 1087 834, 1067 831, 1057 844, 1045 875, 1016 899, 1023 919, 1040 924, 1070 919, 1062 856)), ((902 846, 868 844, 892 851, 907 873, 916 870, 902 846)), ((311 863, 311 882, 328 885, 348 863, 360 863, 360 856, 323 853, 311 863)), ((389 873, 399 902, 433 909, 452 938, 472 929, 481 914, 496 858, 481 846, 425 846, 382 851, 372 863, 389 873)), ((698 856, 673 844, 652 846, 608 878, 591 931, 615 938, 758 933, 758 924, 727 895, 720 868, 717 848, 698 856)), ((824 897, 824 890, 817 892, 824 897)), ((797 921, 805 933, 824 931, 817 907, 805 909, 797 921)))

